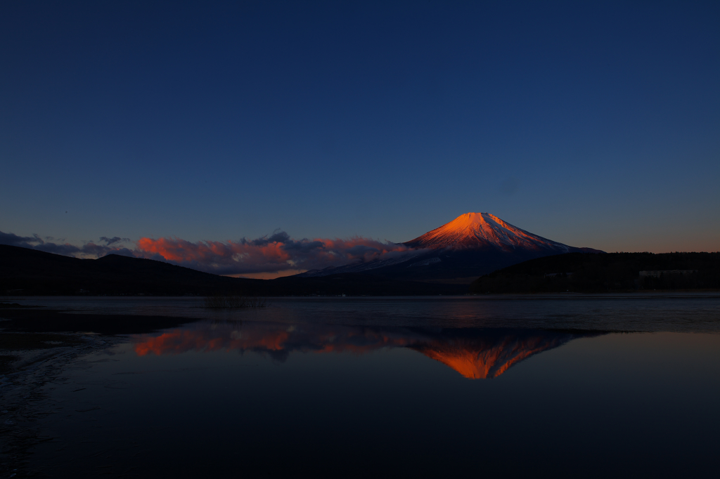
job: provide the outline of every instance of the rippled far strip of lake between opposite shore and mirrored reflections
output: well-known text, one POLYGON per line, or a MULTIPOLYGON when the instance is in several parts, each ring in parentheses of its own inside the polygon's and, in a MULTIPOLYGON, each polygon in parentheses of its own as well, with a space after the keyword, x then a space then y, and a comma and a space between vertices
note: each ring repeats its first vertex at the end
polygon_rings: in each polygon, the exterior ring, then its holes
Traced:
POLYGON ((68 311, 379 326, 720 332, 720 294, 273 298, 259 311, 214 311, 202 298, 12 299, 68 311))

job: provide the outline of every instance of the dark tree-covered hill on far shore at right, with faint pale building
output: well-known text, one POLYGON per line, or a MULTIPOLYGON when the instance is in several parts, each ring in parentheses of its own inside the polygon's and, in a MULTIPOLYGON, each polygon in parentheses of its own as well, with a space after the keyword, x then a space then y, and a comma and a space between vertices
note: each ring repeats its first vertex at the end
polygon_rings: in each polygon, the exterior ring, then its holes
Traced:
POLYGON ((472 293, 557 293, 720 288, 720 252, 568 253, 529 260, 484 275, 472 293), (672 270, 696 270, 670 273, 672 270), (640 271, 664 271, 659 276, 640 271))

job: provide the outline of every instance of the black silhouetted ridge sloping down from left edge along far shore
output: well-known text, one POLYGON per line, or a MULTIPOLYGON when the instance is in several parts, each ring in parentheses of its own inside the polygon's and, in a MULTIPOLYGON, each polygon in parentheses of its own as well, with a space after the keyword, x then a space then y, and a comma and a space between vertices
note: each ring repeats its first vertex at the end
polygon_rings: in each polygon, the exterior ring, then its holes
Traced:
POLYGON ((246 296, 423 295, 465 293, 467 288, 349 273, 323 278, 229 278, 137 257, 97 260, 0 245, 0 294, 9 296, 239 294, 246 296))

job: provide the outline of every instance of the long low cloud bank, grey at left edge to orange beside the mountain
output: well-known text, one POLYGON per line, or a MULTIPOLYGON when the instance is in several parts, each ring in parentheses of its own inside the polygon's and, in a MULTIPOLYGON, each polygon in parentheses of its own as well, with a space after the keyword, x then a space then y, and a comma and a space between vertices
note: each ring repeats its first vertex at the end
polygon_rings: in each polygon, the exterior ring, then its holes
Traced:
POLYGON ((125 255, 163 260, 220 275, 277 273, 284 270, 313 270, 328 266, 388 260, 412 251, 405 245, 376 239, 292 239, 286 232, 275 232, 257 239, 237 241, 189 242, 180 238, 140 238, 132 250, 123 244, 127 238, 101 237, 82 246, 54 242, 37 234, 20 237, 0 232, 0 245, 12 245, 58 255, 102 257, 125 255))

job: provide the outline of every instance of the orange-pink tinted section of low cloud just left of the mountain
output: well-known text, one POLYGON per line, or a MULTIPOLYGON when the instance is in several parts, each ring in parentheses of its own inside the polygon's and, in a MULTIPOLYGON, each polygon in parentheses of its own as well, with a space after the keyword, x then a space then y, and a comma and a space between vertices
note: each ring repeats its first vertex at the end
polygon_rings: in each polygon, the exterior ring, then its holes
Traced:
POLYGON ((305 271, 389 259, 409 252, 405 245, 375 239, 291 239, 285 232, 258 239, 189 242, 180 238, 140 238, 135 255, 163 259, 222 275, 305 271))

